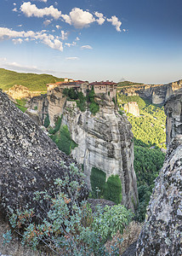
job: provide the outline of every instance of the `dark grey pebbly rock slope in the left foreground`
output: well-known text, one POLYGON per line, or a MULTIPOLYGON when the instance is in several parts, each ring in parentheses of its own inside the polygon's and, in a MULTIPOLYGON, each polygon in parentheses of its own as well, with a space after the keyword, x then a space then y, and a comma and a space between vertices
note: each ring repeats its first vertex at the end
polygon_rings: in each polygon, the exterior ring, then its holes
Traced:
MULTIPOLYGON (((34 192, 46 189, 53 195, 55 178, 64 179, 65 173, 70 175, 69 166, 75 160, 61 153, 42 129, 2 91, 0 126, 0 207, 5 213, 9 208, 35 207, 43 214, 46 204, 38 207, 32 200, 34 192), (67 167, 62 166, 61 161, 65 161, 67 167)), ((79 176, 73 178, 82 182, 79 176)), ((81 185, 80 199, 87 195, 88 189, 81 185)))

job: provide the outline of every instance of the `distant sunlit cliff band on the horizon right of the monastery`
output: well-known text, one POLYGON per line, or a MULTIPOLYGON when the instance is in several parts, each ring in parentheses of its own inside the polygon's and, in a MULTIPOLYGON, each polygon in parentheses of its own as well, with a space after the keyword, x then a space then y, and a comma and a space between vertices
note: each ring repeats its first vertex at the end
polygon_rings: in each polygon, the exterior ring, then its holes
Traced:
POLYGON ((182 80, 170 84, 142 84, 123 87, 120 92, 127 96, 140 96, 153 104, 164 104, 175 90, 182 87, 182 80))

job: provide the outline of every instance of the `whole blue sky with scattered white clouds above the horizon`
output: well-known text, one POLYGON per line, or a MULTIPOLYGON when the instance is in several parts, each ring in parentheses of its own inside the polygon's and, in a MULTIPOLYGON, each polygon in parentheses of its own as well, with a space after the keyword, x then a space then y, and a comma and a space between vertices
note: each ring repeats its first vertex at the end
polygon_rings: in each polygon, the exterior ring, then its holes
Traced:
POLYGON ((181 0, 0 0, 0 67, 89 82, 182 79, 181 0))

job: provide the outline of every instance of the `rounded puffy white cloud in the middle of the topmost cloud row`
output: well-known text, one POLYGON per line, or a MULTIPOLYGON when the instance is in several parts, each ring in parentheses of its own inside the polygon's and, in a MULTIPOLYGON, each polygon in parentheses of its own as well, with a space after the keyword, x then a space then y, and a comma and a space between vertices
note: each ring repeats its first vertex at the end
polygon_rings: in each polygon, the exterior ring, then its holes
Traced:
POLYGON ((62 18, 66 23, 73 25, 76 28, 88 27, 95 21, 92 14, 79 8, 72 9, 69 15, 62 15, 62 18))

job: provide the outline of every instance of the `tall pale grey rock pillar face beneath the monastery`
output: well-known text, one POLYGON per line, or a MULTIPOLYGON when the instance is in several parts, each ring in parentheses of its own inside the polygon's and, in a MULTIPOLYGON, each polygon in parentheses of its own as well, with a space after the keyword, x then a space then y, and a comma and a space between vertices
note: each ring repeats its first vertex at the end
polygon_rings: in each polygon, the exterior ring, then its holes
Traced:
POLYGON ((106 173, 118 174, 122 181, 122 204, 134 209, 138 194, 134 172, 134 142, 131 125, 115 109, 109 96, 97 96, 100 112, 95 116, 81 112, 76 102, 66 102, 62 125, 67 125, 71 138, 78 144, 72 156, 83 165, 90 188, 92 167, 106 173))

